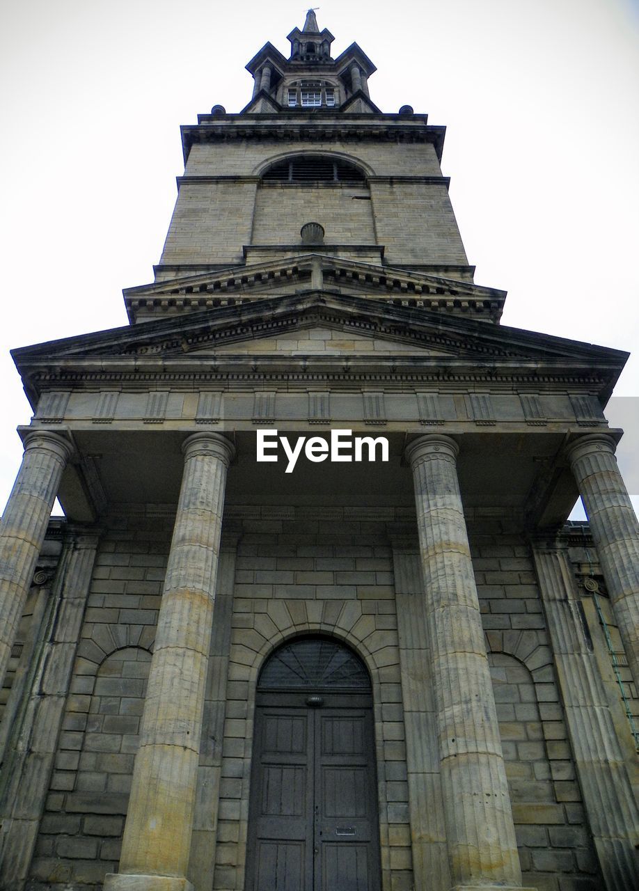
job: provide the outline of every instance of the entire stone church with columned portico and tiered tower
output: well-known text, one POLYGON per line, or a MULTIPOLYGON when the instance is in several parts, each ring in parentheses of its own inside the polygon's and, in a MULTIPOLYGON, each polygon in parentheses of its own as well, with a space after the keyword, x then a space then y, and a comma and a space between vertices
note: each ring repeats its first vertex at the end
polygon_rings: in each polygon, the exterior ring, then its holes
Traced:
POLYGON ((500 325, 444 128, 289 40, 130 325, 13 354, 0 887, 639 887, 626 355, 500 325))

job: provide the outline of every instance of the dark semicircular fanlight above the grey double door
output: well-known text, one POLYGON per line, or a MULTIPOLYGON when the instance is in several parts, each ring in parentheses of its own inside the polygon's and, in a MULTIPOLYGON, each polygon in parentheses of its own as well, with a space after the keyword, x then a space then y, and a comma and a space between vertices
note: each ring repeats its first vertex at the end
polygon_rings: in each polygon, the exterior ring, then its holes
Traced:
POLYGON ((258 690, 370 691, 364 662, 329 637, 301 637, 283 644, 266 660, 258 690))

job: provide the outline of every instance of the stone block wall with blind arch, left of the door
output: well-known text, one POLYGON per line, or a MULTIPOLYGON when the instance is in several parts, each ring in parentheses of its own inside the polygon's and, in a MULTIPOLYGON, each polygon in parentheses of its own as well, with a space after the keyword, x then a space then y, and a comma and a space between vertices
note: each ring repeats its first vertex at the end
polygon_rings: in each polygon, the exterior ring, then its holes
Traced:
POLYGON ((117 868, 172 524, 108 520, 29 888, 101 887, 117 868))

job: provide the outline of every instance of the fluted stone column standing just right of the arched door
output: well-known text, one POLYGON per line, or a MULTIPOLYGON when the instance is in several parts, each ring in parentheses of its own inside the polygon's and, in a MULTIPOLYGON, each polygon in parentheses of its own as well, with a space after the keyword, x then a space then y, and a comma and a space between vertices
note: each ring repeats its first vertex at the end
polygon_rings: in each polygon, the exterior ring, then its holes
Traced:
POLYGON ((450 437, 406 448, 413 469, 437 713, 446 843, 455 891, 520 887, 495 699, 450 437))

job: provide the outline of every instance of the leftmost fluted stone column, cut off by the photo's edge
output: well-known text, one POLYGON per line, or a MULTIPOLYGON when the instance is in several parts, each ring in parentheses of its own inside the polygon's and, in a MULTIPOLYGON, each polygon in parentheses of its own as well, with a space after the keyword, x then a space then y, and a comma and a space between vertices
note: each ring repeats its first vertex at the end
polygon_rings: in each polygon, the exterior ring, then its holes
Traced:
POLYGON ((70 443, 58 433, 33 430, 0 524, 0 683, 20 625, 38 554, 70 443))

